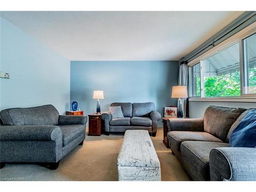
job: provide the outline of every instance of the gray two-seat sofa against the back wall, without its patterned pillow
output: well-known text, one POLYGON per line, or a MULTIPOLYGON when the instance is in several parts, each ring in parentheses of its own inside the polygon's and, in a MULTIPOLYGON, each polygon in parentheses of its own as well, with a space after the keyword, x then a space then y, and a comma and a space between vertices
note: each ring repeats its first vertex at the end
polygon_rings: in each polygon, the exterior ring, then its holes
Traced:
POLYGON ((110 111, 102 113, 101 119, 104 121, 106 135, 126 130, 147 130, 151 136, 156 136, 157 121, 161 119, 161 115, 155 111, 153 102, 115 102, 111 103, 111 106, 121 106, 124 118, 112 119, 110 111))

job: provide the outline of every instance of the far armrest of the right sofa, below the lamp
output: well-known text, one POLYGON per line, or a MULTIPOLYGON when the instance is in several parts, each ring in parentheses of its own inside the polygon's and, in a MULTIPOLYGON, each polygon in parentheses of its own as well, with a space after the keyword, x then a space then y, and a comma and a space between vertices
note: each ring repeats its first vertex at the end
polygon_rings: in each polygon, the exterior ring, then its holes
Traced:
POLYGON ((202 118, 172 118, 167 120, 168 131, 204 131, 202 118))

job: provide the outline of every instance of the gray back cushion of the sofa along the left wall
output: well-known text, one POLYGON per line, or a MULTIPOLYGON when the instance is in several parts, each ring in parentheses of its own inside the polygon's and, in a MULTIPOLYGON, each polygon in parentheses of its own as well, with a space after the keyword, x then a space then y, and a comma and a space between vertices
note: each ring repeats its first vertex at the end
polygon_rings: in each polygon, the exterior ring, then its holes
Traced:
POLYGON ((57 125, 59 112, 51 105, 11 108, 0 112, 5 125, 57 125))

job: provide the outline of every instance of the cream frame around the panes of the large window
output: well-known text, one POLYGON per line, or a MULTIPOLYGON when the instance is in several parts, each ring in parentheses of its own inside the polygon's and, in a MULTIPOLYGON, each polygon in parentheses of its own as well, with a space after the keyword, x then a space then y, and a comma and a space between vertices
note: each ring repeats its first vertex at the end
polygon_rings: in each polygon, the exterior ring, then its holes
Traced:
POLYGON ((243 39, 249 37, 250 35, 256 32, 256 22, 249 25, 248 27, 242 29, 240 32, 232 35, 231 37, 227 38, 217 46, 211 48, 210 50, 206 51, 199 57, 191 60, 188 62, 189 67, 189 101, 232 101, 232 102, 255 102, 256 101, 256 94, 244 94, 244 57, 243 57, 243 39), (218 52, 227 49, 228 47, 236 44, 239 42, 239 59, 240 59, 240 91, 241 96, 238 97, 205 97, 204 96, 204 80, 203 80, 203 60, 211 57, 212 55, 217 54, 218 52), (200 75, 201 75, 201 97, 193 97, 190 96, 191 91, 191 67, 200 63, 200 75))

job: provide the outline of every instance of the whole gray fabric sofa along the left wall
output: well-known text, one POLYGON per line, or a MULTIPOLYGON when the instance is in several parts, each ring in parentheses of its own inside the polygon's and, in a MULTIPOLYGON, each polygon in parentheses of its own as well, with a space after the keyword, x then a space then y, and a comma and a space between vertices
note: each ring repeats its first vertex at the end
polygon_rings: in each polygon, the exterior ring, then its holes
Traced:
POLYGON ((56 169, 59 161, 86 137, 86 116, 59 115, 53 105, 0 112, 0 162, 41 163, 56 169))

